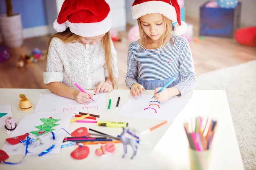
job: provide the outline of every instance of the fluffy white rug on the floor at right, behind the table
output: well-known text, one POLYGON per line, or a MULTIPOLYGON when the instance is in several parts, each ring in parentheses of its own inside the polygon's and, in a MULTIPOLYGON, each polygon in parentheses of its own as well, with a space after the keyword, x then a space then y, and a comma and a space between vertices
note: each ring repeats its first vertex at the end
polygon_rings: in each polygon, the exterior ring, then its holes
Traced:
POLYGON ((256 60, 197 79, 195 89, 225 89, 245 170, 256 170, 256 60))

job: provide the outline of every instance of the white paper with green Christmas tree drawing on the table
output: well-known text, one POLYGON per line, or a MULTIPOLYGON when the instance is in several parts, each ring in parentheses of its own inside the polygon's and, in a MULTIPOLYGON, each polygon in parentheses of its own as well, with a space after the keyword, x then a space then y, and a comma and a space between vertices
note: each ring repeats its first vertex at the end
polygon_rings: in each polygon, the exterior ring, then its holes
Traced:
MULTIPOLYGON (((63 139, 65 135, 67 135, 67 132, 65 132, 63 129, 67 131, 72 116, 72 112, 41 112, 38 114, 26 115, 20 120, 16 129, 11 134, 11 137, 16 137, 29 133, 29 137, 36 139, 38 135, 35 135, 34 132, 40 131, 40 134, 43 133, 43 131, 49 131, 49 133, 39 135, 41 141, 37 140, 36 142, 33 142, 29 145, 29 152, 36 153, 36 155, 38 155, 39 153, 43 152, 44 150, 55 144, 55 147, 49 153, 59 153, 63 139), (49 121, 48 119, 54 119, 56 121, 49 121), (45 128, 43 129, 40 126, 43 124, 47 124, 48 126, 45 126, 45 128), (46 130, 47 128, 49 128, 49 126, 51 128, 46 130), (55 134, 55 140, 52 139, 51 131, 55 134)), ((8 155, 25 155, 26 145, 22 143, 11 145, 6 142, 2 150, 4 150, 8 155)))

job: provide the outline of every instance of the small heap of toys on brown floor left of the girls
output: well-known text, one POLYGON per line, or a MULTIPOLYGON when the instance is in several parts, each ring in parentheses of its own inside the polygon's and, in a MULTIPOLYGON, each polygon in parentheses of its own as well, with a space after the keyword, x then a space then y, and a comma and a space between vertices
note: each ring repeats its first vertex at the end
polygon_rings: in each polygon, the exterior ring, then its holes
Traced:
POLYGON ((36 63, 39 61, 39 59, 43 58, 42 56, 44 54, 45 52, 42 52, 38 48, 34 48, 30 55, 21 54, 16 66, 17 68, 23 68, 25 63, 36 63))

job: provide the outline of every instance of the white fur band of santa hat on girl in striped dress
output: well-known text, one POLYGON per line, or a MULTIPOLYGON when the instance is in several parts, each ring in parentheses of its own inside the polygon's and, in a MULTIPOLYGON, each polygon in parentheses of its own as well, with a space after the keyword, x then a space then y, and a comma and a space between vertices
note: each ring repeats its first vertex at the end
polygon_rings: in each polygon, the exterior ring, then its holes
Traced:
POLYGON ((151 13, 161 13, 173 22, 177 22, 177 13, 175 8, 166 2, 148 1, 132 6, 133 20, 137 20, 139 17, 151 13))

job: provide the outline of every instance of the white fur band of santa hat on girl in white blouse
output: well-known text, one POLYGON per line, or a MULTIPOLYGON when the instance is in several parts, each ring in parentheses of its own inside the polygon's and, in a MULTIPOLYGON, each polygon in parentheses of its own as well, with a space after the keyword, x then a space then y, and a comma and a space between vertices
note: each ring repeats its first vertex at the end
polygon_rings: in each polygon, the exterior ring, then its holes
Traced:
POLYGON ((110 13, 101 22, 94 23, 72 23, 67 20, 70 31, 82 37, 95 37, 107 33, 112 26, 112 17, 110 13))

